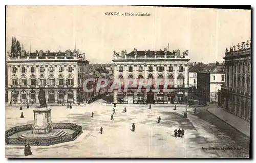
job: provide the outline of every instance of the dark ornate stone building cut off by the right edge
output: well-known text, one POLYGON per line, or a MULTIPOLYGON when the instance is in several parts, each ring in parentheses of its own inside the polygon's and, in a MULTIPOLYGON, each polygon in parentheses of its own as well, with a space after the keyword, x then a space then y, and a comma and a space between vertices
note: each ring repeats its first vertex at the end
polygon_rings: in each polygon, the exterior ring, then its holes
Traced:
MULTIPOLYGON (((221 88, 222 106, 230 113, 250 121, 251 115, 251 43, 242 42, 226 49, 225 86, 221 88)), ((220 105, 221 105, 220 104, 220 105)))

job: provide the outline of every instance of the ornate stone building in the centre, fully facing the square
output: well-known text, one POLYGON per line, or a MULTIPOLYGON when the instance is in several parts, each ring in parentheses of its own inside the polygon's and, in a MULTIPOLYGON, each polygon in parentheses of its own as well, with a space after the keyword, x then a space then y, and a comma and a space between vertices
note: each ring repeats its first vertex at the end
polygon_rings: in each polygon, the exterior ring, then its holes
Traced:
MULTIPOLYGON (((188 92, 188 51, 180 54, 180 50, 137 51, 134 49, 121 55, 114 51, 114 80, 119 79, 121 91, 115 87, 114 102, 116 103, 184 103, 188 92), (137 80, 126 92, 124 85, 127 79, 137 80), (153 92, 156 80, 160 81, 159 91, 153 92), (152 80, 150 91, 146 87, 138 89, 138 80, 152 80), (163 91, 164 83, 167 92, 163 91)), ((130 84, 130 83, 129 83, 130 84)))

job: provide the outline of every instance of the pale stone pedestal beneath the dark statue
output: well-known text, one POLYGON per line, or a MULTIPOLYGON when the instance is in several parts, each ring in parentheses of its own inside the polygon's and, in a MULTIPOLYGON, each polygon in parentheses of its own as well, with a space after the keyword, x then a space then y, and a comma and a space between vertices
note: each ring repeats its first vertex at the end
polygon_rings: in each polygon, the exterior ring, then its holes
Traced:
POLYGON ((32 134, 47 134, 52 131, 51 109, 40 107, 34 111, 32 134))

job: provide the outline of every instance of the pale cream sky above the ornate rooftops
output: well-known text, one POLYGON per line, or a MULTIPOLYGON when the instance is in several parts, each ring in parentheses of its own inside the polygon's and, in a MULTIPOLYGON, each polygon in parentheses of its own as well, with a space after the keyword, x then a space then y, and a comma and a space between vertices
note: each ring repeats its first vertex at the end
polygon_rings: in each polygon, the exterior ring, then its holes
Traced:
POLYGON ((26 51, 79 49, 90 63, 113 51, 188 50, 191 62, 222 62, 225 48, 251 38, 251 11, 139 6, 8 6, 6 50, 16 37, 26 51), (119 12, 120 16, 106 16, 119 12), (151 16, 124 16, 148 13, 151 16))

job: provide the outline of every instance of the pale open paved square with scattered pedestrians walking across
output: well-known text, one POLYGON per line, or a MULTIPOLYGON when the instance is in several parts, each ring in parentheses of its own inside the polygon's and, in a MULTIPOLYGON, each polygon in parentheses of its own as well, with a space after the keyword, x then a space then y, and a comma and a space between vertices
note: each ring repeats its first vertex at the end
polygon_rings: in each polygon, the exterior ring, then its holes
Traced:
MULTIPOLYGON (((187 108, 184 105, 123 106, 115 108, 103 100, 91 104, 50 106, 53 123, 74 123, 83 133, 73 142, 53 146, 32 146, 33 155, 26 157, 248 157, 249 138, 206 111, 205 107, 187 108), (172 106, 172 107, 171 107, 172 106), (94 117, 91 118, 91 112, 94 117), (158 116, 161 123, 157 123, 158 116), (135 132, 132 124, 135 123, 135 132), (103 133, 100 134, 100 127, 103 133), (175 129, 184 129, 184 138, 174 137, 175 129), (205 150, 202 148, 232 148, 205 150), (240 149, 240 150, 238 150, 240 149)), ((6 107, 6 129, 33 123, 33 108, 24 109, 20 119, 19 107, 6 107)), ((6 157, 25 157, 23 146, 6 146, 6 157)))

